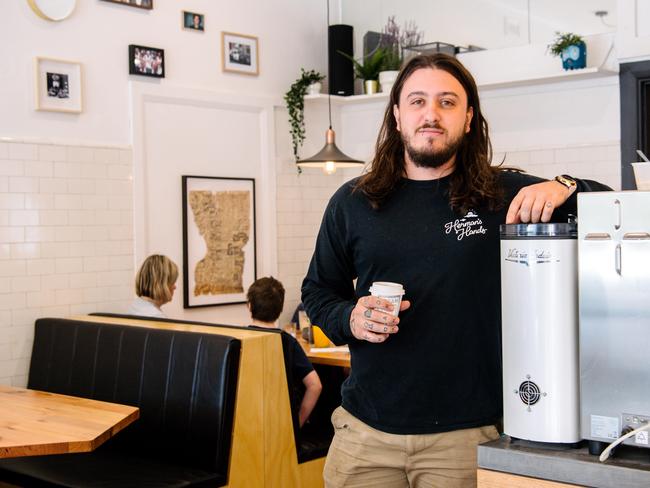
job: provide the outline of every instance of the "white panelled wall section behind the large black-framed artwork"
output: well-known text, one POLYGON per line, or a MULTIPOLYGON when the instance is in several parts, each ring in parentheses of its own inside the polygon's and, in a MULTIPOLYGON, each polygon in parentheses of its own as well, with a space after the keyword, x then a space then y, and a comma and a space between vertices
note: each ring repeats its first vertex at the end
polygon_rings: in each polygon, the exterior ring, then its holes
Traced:
MULTIPOLYGON (((257 274, 277 275, 273 99, 170 86, 133 87, 132 96, 136 261, 162 253, 183 262, 182 175, 253 178, 257 274)), ((249 321, 244 305, 183 309, 182 273, 168 316, 249 321)))

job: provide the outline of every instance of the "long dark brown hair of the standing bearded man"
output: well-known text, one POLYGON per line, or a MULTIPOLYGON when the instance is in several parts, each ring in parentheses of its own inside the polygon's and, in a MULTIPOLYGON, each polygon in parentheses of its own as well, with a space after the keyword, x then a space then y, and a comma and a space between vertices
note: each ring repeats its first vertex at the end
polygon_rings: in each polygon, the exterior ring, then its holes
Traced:
POLYGON ((378 208, 405 176, 405 148, 397 130, 393 106, 399 106, 406 80, 415 71, 427 68, 441 69, 456 78, 467 93, 468 110, 469 107, 474 110, 470 131, 465 134, 456 153, 456 165, 450 177, 449 199, 452 208, 465 213, 481 205, 487 205, 490 209, 499 207, 502 203, 497 185, 499 168, 491 166, 492 143, 487 121, 481 112, 476 82, 456 58, 446 54, 416 56, 402 68, 390 92, 384 123, 377 137, 375 157, 369 171, 358 180, 355 190, 362 191, 372 206, 378 208))

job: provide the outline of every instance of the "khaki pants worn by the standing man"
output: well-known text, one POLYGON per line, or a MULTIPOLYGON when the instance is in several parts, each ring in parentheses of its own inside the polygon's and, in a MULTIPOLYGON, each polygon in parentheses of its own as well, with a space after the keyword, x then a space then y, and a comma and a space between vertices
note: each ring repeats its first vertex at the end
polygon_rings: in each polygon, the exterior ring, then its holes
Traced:
POLYGON ((334 439, 327 453, 325 486, 476 486, 476 446, 497 439, 492 425, 440 434, 387 434, 342 407, 332 414, 334 439))

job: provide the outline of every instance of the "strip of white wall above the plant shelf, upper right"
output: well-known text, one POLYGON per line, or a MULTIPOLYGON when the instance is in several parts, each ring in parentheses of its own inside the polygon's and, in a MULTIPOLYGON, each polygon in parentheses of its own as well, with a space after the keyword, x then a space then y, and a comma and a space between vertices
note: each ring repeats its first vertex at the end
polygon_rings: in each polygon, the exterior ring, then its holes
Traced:
POLYGON ((369 8, 365 0, 344 0, 342 21, 354 26, 355 53, 361 56, 363 35, 381 32, 389 16, 398 24, 414 21, 423 43, 473 44, 498 49, 523 44, 548 44, 556 31, 589 35, 613 32, 617 0, 382 0, 369 8), (528 7, 530 6, 530 11, 528 7), (594 15, 606 10, 609 26, 594 15), (530 35, 529 35, 530 28, 530 35))

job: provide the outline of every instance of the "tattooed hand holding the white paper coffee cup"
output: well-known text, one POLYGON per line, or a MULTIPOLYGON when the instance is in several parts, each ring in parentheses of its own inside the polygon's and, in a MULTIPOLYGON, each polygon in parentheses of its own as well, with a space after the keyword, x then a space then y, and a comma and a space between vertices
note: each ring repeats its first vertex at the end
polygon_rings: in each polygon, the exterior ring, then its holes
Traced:
MULTIPOLYGON (((402 300, 400 311, 411 306, 408 300, 402 300)), ((393 305, 383 298, 371 295, 359 298, 350 315, 350 331, 357 339, 368 342, 384 342, 390 334, 399 328, 399 318, 378 309, 392 310, 393 305)))

